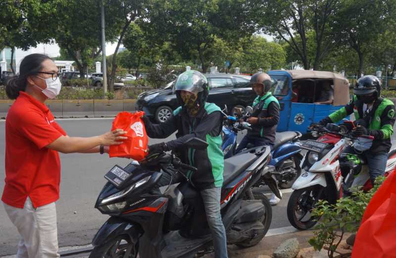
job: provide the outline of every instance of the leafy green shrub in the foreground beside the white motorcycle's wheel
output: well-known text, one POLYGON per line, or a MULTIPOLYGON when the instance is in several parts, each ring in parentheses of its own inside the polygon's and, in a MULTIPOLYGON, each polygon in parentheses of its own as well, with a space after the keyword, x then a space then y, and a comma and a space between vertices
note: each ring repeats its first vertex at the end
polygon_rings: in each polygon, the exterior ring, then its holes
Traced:
POLYGON ((354 191, 352 197, 341 198, 335 205, 320 200, 311 215, 321 217, 315 227, 314 237, 309 244, 315 250, 328 245, 328 256, 333 258, 334 251, 341 243, 346 232, 356 232, 360 226, 364 211, 371 198, 381 186, 385 177, 378 177, 375 186, 368 192, 354 191))

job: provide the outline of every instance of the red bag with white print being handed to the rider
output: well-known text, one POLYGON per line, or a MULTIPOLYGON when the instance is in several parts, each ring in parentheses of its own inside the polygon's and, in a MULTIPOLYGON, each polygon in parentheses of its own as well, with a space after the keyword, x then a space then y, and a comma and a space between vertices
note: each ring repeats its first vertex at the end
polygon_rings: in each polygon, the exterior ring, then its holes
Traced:
POLYGON ((148 137, 143 120, 140 118, 145 112, 120 112, 113 120, 111 130, 122 129, 128 139, 120 145, 110 146, 110 157, 128 157, 141 161, 147 153, 148 137))

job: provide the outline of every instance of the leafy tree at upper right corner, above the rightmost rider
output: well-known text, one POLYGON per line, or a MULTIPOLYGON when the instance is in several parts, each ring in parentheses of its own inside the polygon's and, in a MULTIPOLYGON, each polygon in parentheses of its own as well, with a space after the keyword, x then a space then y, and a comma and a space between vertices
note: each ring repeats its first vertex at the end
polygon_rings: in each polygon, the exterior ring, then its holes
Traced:
POLYGON ((344 0, 336 20, 343 44, 352 48, 358 56, 360 76, 365 57, 373 49, 378 35, 385 32, 395 16, 395 0, 344 0))

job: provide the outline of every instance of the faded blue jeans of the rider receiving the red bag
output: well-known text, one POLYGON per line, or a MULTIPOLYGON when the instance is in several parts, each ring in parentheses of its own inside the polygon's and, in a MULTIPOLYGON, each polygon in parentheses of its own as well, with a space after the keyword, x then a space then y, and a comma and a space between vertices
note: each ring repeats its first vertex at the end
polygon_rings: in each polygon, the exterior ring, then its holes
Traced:
POLYGON ((221 187, 200 191, 205 206, 206 219, 212 232, 214 257, 228 258, 226 230, 220 214, 221 187))

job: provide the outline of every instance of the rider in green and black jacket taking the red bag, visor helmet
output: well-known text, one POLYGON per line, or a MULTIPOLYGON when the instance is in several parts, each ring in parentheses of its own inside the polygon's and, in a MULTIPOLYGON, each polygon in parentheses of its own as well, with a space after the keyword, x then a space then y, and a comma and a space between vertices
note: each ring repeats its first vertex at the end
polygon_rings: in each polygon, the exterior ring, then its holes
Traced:
MULTIPOLYGON (((196 172, 188 171, 186 176, 202 197, 206 219, 212 233, 215 258, 227 258, 226 232, 220 214, 224 167, 220 135, 223 115, 217 105, 206 102, 209 86, 206 77, 200 72, 190 70, 180 74, 173 90, 180 106, 173 111, 172 117, 157 125, 152 124, 145 116, 143 119, 148 137, 166 138, 177 132, 177 139, 150 145, 148 152, 151 155, 176 151, 183 163, 197 167, 196 172), (204 150, 183 147, 184 143, 193 137, 205 141, 208 147, 204 150)), ((164 173, 157 185, 169 185, 171 180, 172 177, 164 173)), ((173 183, 176 183, 176 180, 173 180, 173 183)))

